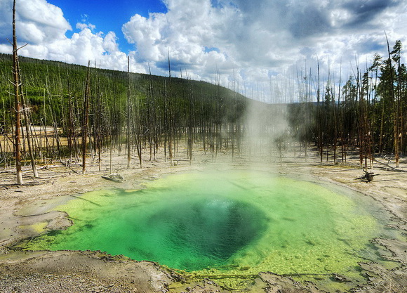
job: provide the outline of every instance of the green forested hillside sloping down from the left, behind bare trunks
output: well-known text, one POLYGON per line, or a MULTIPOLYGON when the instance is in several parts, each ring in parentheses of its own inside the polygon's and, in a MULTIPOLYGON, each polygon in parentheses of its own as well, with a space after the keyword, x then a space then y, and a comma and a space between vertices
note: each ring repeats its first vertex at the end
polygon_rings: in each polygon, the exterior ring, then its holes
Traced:
MULTIPOLYGON (((2 165, 13 164, 12 68, 12 56, 0 55, 2 165)), ((220 85, 22 57, 20 73, 22 125, 30 125, 37 159, 78 158, 82 134, 89 154, 126 145, 140 164, 142 149, 154 159, 160 146, 172 160, 184 138, 189 159, 193 144, 214 155, 222 144, 239 145, 248 99, 220 85)))

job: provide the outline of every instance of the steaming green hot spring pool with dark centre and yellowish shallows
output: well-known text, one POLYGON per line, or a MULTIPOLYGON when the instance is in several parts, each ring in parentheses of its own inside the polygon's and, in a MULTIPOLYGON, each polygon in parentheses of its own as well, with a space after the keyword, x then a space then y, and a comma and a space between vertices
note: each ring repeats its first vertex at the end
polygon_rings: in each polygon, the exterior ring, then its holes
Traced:
POLYGON ((101 250, 196 275, 321 283, 338 273, 356 283, 358 262, 382 261, 370 240, 389 233, 362 195, 262 171, 171 174, 145 187, 70 200, 57 209, 74 225, 27 248, 101 250))

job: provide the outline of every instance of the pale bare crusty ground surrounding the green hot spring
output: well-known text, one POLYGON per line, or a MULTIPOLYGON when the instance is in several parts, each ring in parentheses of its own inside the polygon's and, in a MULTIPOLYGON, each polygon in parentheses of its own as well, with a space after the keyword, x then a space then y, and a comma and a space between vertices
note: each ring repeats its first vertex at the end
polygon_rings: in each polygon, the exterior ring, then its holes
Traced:
MULTIPOLYGON (((185 150, 182 151, 185 153, 185 150)), ((307 174, 315 181, 329 181, 344 185, 372 197, 383 209, 393 215, 392 228, 399 230, 402 240, 376 239, 383 257, 397 261, 392 269, 378 263, 361 263, 368 277, 366 284, 353 292, 407 292, 407 173, 392 171, 376 163, 374 180, 370 183, 355 180, 363 175, 357 158, 347 164, 319 164, 316 157, 287 159, 280 167, 277 158, 254 158, 257 168, 284 174, 307 174), (259 163, 262 162, 262 163, 259 163)), ((62 229, 71 225, 65 214, 50 211, 53 207, 98 188, 136 189, 146 180, 162 174, 206 167, 227 169, 244 167, 248 157, 235 158, 220 154, 215 162, 211 155, 195 152, 190 165, 185 155, 178 155, 177 165, 171 167, 158 157, 156 162, 145 161, 142 169, 133 159, 126 169, 124 155, 114 154, 113 172, 119 172, 126 181, 113 183, 102 179, 109 174, 109 154, 104 155, 103 170, 89 159, 86 175, 76 174, 79 165, 63 167, 59 162, 40 169, 40 178, 32 178, 25 168, 25 185, 14 185, 13 170, 0 170, 0 292, 230 292, 216 284, 216 280, 188 280, 156 263, 131 261, 121 256, 102 252, 25 252, 13 249, 20 240, 44 233, 44 230, 62 229)), ((145 155, 147 157, 147 155, 145 155)), ((385 162, 382 160, 382 162, 385 162)), ((386 162, 387 163, 387 162, 386 162)), ((393 164, 390 164, 394 167, 393 164)), ((407 171, 407 160, 402 159, 400 170, 407 171)), ((339 281, 339 280, 338 280, 339 281)), ((310 283, 300 284, 273 273, 259 273, 246 292, 324 292, 310 283)))

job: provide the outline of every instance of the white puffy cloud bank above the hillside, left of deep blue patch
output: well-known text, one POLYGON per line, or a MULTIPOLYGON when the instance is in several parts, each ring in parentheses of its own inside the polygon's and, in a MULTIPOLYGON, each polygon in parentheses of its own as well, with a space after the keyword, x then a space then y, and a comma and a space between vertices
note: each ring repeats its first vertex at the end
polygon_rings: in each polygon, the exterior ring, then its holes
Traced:
MULTIPOLYGON (((28 43, 20 49, 22 56, 46 60, 88 65, 88 61, 102 68, 127 70, 126 53, 119 51, 114 32, 98 32, 95 25, 86 22, 76 24, 79 32, 66 37, 72 30, 60 8, 46 0, 20 0, 16 7, 16 30, 19 44, 28 43)), ((0 51, 11 53, 13 1, 0 1, 0 51)), ((86 16, 84 17, 86 21, 86 16)), ((132 70, 145 72, 145 66, 135 64, 132 70)))

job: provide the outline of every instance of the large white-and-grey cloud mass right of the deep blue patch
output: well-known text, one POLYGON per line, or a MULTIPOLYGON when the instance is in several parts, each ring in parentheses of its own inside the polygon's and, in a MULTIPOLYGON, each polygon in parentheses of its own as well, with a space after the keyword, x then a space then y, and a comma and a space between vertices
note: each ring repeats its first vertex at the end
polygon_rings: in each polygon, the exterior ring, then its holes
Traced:
POLYGON ((357 54, 373 56, 382 48, 375 35, 382 34, 386 25, 379 29, 371 24, 401 5, 393 0, 203 0, 199 4, 165 0, 164 4, 167 13, 134 15, 123 26, 138 62, 154 63, 156 72, 166 74, 169 53, 173 67, 194 70, 200 79, 214 79, 216 70, 230 76, 239 69, 245 72, 240 77, 252 84, 261 74, 267 78, 270 72, 284 72, 307 58, 327 66, 342 58, 351 62, 357 54), (302 53, 304 48, 307 53, 302 53))

